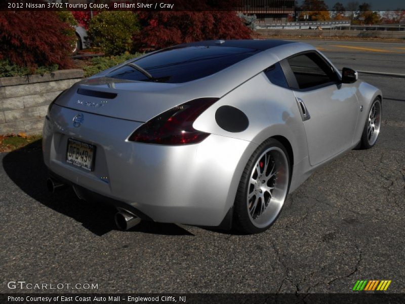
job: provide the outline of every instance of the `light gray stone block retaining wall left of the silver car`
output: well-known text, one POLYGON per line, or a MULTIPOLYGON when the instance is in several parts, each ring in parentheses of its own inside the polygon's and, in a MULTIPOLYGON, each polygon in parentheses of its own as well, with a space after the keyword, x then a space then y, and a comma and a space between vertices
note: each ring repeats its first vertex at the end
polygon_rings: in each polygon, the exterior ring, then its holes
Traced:
POLYGON ((0 134, 41 133, 49 104, 83 76, 83 70, 69 69, 0 78, 0 134))

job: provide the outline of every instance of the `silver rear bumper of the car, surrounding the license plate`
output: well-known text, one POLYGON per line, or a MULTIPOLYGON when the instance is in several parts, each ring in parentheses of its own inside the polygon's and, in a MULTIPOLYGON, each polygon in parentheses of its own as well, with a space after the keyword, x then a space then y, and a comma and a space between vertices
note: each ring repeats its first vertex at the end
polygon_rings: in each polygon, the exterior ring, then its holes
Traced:
POLYGON ((257 147, 214 134, 184 146, 130 142, 127 137, 142 123, 82 112, 82 126, 74 127, 77 113, 54 105, 46 119, 43 150, 50 171, 89 194, 122 203, 141 218, 158 222, 220 225, 257 147), (68 138, 96 146, 94 171, 66 163, 68 138))

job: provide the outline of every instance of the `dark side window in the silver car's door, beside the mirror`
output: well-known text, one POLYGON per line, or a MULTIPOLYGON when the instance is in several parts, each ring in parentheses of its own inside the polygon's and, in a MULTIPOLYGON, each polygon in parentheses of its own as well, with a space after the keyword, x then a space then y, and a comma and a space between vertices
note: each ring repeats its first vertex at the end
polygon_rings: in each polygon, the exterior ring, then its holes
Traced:
POLYGON ((332 67, 316 53, 291 57, 288 63, 298 83, 298 88, 294 89, 308 89, 338 80, 332 67))

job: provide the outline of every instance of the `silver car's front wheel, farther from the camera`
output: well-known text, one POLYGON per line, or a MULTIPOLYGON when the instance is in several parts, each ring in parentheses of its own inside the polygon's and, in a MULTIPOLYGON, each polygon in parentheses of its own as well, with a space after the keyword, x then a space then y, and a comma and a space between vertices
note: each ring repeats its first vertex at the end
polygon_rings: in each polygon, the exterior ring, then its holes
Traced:
POLYGON ((369 117, 361 134, 360 147, 370 149, 377 142, 381 127, 382 107, 381 100, 376 98, 371 106, 369 117))

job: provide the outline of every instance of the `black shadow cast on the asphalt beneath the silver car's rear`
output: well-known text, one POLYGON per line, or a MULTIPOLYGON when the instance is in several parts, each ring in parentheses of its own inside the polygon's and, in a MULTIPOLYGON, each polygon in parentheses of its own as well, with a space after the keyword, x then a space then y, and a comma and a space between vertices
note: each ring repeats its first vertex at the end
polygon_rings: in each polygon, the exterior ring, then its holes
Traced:
MULTIPOLYGON (((42 157, 41 140, 12 151, 3 157, 3 168, 10 179, 27 195, 39 203, 69 216, 83 224, 86 229, 102 236, 117 230, 114 224, 114 207, 79 200, 71 187, 60 189, 55 194, 48 192, 48 170, 42 157)), ((193 235, 176 224, 142 221, 128 232, 159 235, 193 235)))

